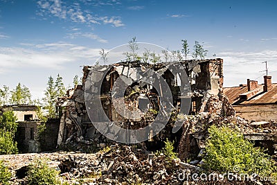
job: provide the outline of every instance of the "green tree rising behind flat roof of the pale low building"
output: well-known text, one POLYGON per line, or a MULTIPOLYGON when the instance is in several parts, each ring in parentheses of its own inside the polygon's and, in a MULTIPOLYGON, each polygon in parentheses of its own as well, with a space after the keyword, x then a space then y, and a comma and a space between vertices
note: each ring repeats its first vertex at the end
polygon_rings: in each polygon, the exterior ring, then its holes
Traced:
POLYGON ((18 83, 17 87, 11 92, 10 103, 12 104, 31 104, 30 90, 25 85, 18 83))

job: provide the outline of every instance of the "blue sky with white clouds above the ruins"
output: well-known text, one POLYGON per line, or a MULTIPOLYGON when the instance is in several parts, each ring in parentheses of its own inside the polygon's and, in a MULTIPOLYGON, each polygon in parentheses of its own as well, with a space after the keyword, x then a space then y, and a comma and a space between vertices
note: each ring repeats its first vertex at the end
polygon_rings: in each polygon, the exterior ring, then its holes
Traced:
POLYGON ((181 49, 188 39, 224 59, 224 86, 277 79, 277 1, 0 0, 0 87, 18 82, 42 97, 48 76, 82 76, 98 51, 136 36, 181 49))

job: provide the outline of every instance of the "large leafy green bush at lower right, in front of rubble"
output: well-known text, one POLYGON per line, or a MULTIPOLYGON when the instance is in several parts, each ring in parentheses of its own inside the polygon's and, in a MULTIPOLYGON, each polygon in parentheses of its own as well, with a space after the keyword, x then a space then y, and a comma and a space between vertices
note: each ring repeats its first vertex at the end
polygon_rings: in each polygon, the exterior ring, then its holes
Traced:
POLYGON ((276 162, 261 149, 229 127, 211 126, 208 129, 203 167, 220 173, 235 172, 263 177, 277 175, 276 162))

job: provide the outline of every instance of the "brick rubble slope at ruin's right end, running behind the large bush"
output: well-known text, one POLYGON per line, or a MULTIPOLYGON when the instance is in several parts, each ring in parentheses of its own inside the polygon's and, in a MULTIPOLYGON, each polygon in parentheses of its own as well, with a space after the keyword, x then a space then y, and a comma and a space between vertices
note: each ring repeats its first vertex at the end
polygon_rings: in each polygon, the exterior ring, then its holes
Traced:
POLYGON ((247 139, 249 139, 249 135, 255 134, 262 136, 262 138, 264 138, 264 135, 267 135, 269 136, 267 139, 274 138, 275 134, 276 138, 276 122, 252 122, 244 120, 240 116, 235 116, 235 110, 226 96, 219 98, 212 95, 207 98, 203 106, 204 112, 200 112, 197 115, 184 116, 183 133, 178 146, 180 159, 197 156, 199 151, 201 152, 206 147, 208 128, 211 125, 230 127, 244 134, 247 139))

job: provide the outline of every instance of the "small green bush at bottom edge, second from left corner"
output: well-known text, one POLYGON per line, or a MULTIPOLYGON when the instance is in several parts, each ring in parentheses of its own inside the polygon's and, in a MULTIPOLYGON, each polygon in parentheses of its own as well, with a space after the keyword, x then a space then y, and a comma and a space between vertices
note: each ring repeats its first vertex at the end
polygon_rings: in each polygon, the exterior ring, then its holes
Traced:
POLYGON ((45 159, 37 159, 34 164, 30 164, 28 167, 27 184, 58 184, 57 175, 57 171, 53 168, 50 168, 45 159))

